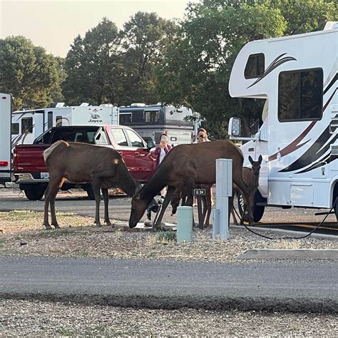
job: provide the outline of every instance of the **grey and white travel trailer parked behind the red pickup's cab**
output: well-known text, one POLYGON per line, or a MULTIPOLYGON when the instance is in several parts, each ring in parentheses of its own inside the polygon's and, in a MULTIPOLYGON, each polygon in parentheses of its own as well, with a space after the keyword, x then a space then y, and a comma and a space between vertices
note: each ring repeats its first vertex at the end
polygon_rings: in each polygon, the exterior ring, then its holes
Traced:
POLYGON ((141 137, 151 139, 155 144, 160 143, 160 135, 165 131, 171 145, 191 143, 195 135, 194 123, 185 121, 187 116, 193 116, 190 108, 161 104, 132 103, 119 108, 120 125, 133 128, 141 137))

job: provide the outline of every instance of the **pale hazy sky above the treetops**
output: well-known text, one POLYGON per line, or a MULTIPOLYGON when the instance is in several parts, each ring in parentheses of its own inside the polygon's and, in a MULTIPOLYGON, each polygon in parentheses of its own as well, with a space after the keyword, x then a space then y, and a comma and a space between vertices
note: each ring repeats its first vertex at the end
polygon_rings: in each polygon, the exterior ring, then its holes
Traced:
POLYGON ((164 19, 183 19, 188 1, 0 0, 0 39, 25 36, 48 53, 65 57, 76 36, 84 36, 105 16, 118 29, 138 11, 155 12, 164 19))

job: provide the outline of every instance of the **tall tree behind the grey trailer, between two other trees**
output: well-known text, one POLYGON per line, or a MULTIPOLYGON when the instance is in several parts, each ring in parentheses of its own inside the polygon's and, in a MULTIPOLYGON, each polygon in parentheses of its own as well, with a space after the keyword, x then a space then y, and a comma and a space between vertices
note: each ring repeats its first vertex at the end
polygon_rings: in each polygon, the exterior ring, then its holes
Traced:
POLYGON ((156 103, 153 68, 161 60, 177 26, 155 13, 138 12, 123 26, 123 104, 156 103))

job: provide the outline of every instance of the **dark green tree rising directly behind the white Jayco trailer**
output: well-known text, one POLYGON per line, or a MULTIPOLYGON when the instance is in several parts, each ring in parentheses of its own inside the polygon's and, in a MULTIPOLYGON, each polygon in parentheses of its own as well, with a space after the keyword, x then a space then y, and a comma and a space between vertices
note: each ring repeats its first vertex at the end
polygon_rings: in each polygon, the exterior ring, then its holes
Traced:
POLYGON ((77 36, 65 60, 67 73, 63 95, 68 104, 84 101, 115 103, 119 98, 121 60, 120 36, 116 24, 106 18, 84 38, 77 36))

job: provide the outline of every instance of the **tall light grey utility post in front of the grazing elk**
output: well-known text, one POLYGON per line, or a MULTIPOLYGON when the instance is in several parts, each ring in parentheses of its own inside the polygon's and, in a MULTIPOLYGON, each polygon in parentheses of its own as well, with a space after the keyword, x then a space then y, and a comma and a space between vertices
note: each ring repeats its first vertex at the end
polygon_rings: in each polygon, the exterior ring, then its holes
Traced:
POLYGON ((216 210, 212 238, 220 236, 227 240, 229 227, 229 197, 232 196, 232 160, 219 158, 216 160, 216 210), (219 210, 219 211, 218 211, 219 210))

